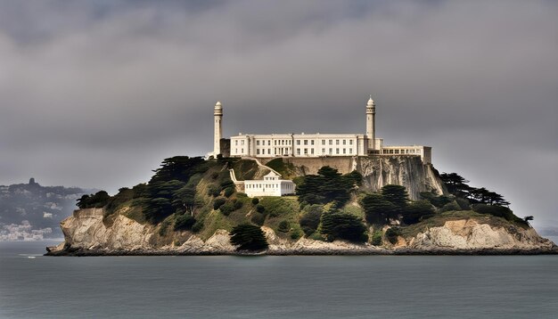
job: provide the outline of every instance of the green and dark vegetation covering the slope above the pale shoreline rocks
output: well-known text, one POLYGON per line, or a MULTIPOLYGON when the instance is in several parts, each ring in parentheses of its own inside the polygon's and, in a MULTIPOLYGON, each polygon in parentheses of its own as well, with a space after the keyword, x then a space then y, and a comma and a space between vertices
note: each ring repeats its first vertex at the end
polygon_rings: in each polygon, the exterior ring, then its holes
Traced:
MULTIPOLYGON (((283 160, 269 164, 282 174, 295 171, 283 160)), ((502 195, 470 187, 455 173, 441 175, 448 194, 423 192, 421 200, 410 200, 401 185, 369 192, 357 171, 342 175, 323 167, 316 175, 296 177, 297 196, 250 199, 236 191, 229 169, 243 178, 263 172, 252 160, 174 157, 162 162, 149 183, 121 188, 114 196, 103 191, 84 195, 78 206, 104 207, 107 218, 121 212, 140 223, 158 225, 160 236, 189 232, 206 240, 217 229, 225 229, 240 250, 267 248, 260 226, 283 239, 306 236, 382 245, 452 217, 499 217, 522 226, 532 218, 515 217, 502 195)))

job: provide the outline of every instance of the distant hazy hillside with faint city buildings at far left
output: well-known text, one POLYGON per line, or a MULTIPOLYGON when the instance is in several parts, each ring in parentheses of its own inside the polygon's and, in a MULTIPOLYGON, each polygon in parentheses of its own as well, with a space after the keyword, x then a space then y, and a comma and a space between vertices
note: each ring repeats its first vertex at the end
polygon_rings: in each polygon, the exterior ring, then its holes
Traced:
POLYGON ((59 223, 76 209, 87 192, 77 187, 29 184, 0 185, 0 241, 60 238, 59 223))

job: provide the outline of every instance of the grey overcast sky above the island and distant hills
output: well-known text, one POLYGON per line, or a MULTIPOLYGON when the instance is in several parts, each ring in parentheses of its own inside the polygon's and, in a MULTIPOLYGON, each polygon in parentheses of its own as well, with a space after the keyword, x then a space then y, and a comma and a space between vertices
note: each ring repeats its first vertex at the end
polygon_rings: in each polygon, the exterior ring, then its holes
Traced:
POLYGON ((555 1, 0 1, 0 184, 119 187, 224 134, 432 146, 558 225, 555 1))

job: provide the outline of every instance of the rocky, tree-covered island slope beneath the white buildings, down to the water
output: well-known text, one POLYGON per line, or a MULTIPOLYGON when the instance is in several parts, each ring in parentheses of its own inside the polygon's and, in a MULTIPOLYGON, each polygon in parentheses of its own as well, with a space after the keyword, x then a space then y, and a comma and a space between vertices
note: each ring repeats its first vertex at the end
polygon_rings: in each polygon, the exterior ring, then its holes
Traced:
POLYGON ((269 169, 254 160, 165 159, 148 184, 81 198, 62 221, 65 241, 49 253, 231 254, 238 225, 259 227, 267 254, 555 251, 511 210, 448 194, 438 172, 415 159, 270 160, 298 196, 259 199, 242 192, 242 180, 269 169))

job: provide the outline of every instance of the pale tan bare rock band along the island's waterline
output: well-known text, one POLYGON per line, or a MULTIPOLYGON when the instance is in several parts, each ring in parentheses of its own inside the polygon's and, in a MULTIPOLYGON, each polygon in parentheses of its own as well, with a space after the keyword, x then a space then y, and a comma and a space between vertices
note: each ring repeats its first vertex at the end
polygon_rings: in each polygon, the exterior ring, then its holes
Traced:
MULTIPOLYGON (((556 253, 552 241, 533 228, 494 226, 479 218, 447 221, 425 232, 399 237, 382 246, 347 241, 290 241, 262 227, 269 242, 267 255, 358 254, 509 254, 556 253)), ((142 225, 122 215, 103 222, 103 209, 82 209, 62 221, 65 241, 49 248, 50 255, 219 255, 236 253, 228 232, 217 230, 207 241, 187 232, 160 235, 159 226, 142 225)))

